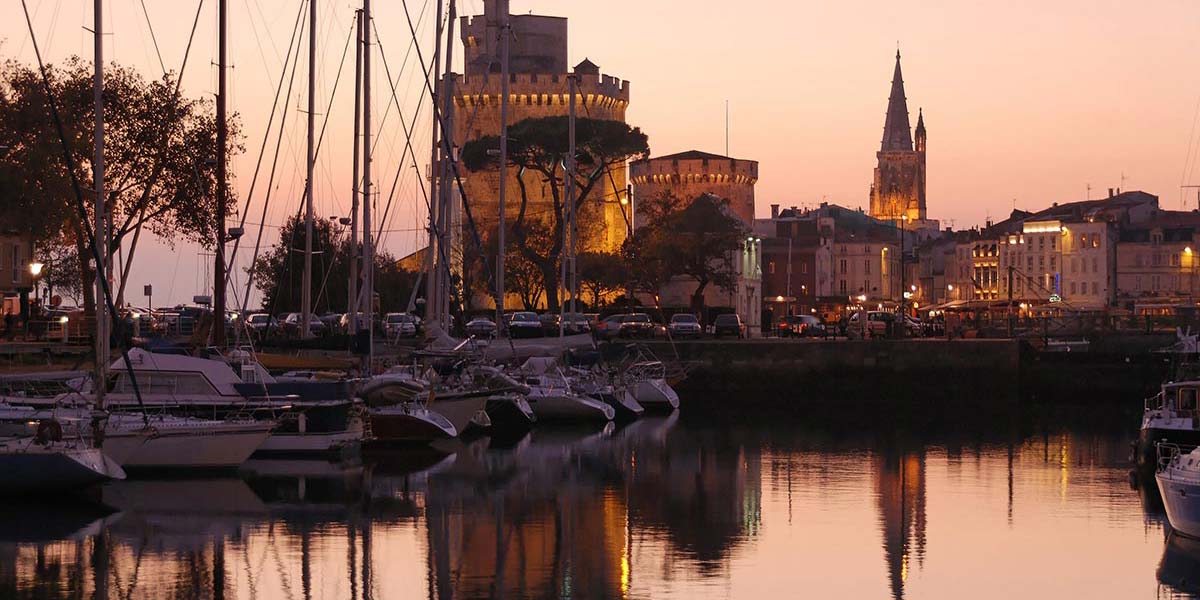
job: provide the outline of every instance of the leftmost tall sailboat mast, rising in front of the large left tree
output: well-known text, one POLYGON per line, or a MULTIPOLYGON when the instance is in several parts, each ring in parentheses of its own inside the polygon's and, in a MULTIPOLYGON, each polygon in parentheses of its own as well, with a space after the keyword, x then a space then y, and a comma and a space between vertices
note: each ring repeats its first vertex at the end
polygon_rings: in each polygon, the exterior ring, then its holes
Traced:
MULTIPOLYGON (((96 119, 92 131, 92 157, 91 172, 95 184, 95 233, 96 247, 96 406, 104 407, 104 392, 108 382, 108 353, 109 353, 109 316, 108 300, 104 295, 104 264, 108 263, 108 233, 104 227, 107 217, 104 209, 107 198, 104 194, 104 1, 95 2, 95 77, 92 78, 92 91, 96 102, 96 119)), ((66 326, 66 325, 64 325, 66 326)))

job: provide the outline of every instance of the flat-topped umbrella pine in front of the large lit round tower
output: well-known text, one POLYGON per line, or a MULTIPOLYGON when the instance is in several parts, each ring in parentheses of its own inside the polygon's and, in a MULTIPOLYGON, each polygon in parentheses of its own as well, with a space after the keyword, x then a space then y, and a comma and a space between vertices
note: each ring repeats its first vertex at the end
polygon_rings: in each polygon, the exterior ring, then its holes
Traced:
MULTIPOLYGON (((521 204, 512 223, 512 247, 541 276, 541 288, 546 294, 546 306, 558 311, 558 269, 563 253, 563 228, 566 173, 563 158, 570 151, 568 144, 569 119, 546 116, 526 119, 509 127, 509 167, 517 170, 517 188, 521 204), (530 179, 526 172, 541 176, 548 187, 551 206, 545 216, 530 211, 530 179), (548 235, 540 235, 534 221, 547 223, 548 235)), ((578 194, 575 200, 576 223, 580 236, 588 238, 587 228, 602 226, 602 199, 589 203, 596 185, 607 180, 608 169, 624 164, 630 158, 649 154, 647 137, 637 127, 620 121, 576 119, 576 175, 578 194)), ((463 166, 474 172, 499 168, 498 157, 491 150, 499 146, 497 136, 486 136, 468 142, 462 150, 463 166)), ((540 209, 538 212, 541 212, 540 209)))

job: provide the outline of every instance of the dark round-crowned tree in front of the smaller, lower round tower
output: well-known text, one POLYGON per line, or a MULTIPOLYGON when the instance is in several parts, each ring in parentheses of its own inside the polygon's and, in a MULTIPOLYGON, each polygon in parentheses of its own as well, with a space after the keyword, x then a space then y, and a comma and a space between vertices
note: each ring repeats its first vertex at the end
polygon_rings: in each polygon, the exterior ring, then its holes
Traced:
POLYGON ((643 286, 654 293, 673 276, 696 282, 691 308, 704 307, 704 289, 714 284, 733 290, 733 257, 745 240, 746 227, 728 208, 728 200, 704 193, 684 205, 673 194, 643 200, 654 221, 638 229, 626 247, 643 286))

